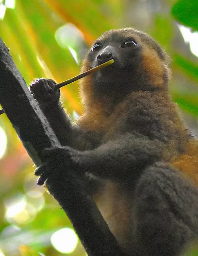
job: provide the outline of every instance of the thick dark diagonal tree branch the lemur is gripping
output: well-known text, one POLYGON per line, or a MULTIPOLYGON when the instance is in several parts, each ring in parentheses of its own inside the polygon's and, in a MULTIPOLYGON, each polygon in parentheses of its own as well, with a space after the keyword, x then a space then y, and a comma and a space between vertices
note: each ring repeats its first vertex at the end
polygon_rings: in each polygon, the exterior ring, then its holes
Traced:
MULTIPOLYGON (((36 166, 44 160, 41 154, 44 148, 60 146, 1 39, 0 104, 36 166)), ((88 255, 121 256, 120 247, 95 202, 74 174, 68 172, 65 180, 59 183, 48 179, 47 187, 69 216, 88 255), (61 186, 67 191, 64 195, 61 186)))

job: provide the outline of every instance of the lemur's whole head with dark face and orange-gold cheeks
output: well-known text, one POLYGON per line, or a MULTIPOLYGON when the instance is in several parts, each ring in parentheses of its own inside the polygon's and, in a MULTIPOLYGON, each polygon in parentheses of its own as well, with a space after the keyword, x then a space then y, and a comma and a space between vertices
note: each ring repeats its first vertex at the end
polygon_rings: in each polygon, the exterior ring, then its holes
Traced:
POLYGON ((83 71, 112 58, 112 65, 93 73, 96 92, 108 96, 112 90, 128 94, 133 90, 159 89, 167 84, 166 54, 143 32, 132 28, 105 32, 88 51, 83 71))

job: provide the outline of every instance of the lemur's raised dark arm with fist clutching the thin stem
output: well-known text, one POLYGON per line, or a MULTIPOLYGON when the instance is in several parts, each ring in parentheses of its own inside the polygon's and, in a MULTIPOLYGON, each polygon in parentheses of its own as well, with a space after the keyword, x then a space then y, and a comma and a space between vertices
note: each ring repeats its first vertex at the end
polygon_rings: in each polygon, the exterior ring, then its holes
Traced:
POLYGON ((62 146, 72 146, 80 150, 95 147, 98 136, 72 124, 59 100, 60 89, 55 87, 55 84, 52 79, 40 78, 31 83, 30 90, 48 119, 57 139, 62 146))

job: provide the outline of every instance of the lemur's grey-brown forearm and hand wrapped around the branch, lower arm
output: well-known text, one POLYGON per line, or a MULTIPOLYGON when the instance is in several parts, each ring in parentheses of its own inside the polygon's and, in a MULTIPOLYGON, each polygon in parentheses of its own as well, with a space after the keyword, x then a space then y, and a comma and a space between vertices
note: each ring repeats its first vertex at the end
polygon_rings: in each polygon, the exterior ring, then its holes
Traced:
MULTIPOLYGON (((60 166, 86 172, 103 179, 127 181, 133 179, 145 166, 162 158, 164 144, 148 137, 126 133, 114 141, 108 141, 93 150, 80 151, 65 146, 46 149, 44 154, 49 161, 38 167, 36 175, 41 175, 39 185, 58 171, 60 166)), ((64 175, 64 173, 62 173, 64 175)))

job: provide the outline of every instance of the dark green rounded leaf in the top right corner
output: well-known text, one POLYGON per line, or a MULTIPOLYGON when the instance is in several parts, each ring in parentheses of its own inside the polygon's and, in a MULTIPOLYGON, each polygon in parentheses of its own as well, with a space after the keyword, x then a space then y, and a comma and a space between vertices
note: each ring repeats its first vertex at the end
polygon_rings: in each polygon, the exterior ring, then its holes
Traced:
POLYGON ((183 25, 198 30, 198 0, 180 0, 173 5, 171 13, 183 25))

